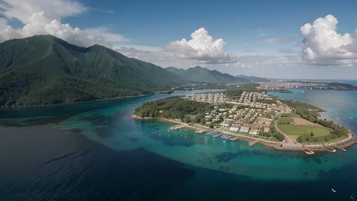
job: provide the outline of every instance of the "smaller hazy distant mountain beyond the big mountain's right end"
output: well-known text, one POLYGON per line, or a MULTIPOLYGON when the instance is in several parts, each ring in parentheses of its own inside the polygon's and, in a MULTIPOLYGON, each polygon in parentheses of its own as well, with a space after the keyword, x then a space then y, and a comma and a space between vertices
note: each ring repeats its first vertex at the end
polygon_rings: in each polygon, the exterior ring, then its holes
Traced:
POLYGON ((227 84, 237 84, 237 83, 249 83, 249 80, 236 78, 227 73, 221 73, 217 70, 209 70, 205 67, 190 67, 187 70, 178 69, 175 67, 165 68, 168 72, 180 76, 182 79, 186 79, 191 82, 200 83, 227 83, 227 84))

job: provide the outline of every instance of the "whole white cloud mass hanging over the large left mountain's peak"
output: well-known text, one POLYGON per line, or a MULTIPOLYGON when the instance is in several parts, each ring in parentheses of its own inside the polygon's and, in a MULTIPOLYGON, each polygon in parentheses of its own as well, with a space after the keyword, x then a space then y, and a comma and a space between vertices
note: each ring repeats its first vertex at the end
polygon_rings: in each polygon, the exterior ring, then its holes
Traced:
POLYGON ((94 44, 113 48, 113 43, 129 41, 124 35, 110 33, 108 27, 80 29, 62 24, 62 17, 76 16, 89 10, 74 0, 0 0, 0 42, 32 35, 50 34, 74 45, 94 44), (18 20, 23 28, 14 29, 8 20, 18 20))

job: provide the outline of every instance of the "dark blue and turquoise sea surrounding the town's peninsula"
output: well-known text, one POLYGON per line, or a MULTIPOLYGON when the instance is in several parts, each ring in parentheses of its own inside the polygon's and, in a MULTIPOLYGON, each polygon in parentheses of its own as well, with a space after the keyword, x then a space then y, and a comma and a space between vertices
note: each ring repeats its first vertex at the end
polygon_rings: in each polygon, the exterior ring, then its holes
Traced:
MULTIPOLYGON (((270 94, 357 133, 356 91, 292 91, 270 94)), ((194 92, 0 109, 0 201, 357 199, 356 146, 308 156, 131 118, 145 101, 194 92)))

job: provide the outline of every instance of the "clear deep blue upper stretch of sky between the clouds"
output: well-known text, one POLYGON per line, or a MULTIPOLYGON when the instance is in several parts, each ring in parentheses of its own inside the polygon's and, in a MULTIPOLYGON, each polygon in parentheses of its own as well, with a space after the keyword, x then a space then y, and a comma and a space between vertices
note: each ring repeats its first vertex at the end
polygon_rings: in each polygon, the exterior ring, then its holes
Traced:
MULTIPOLYGON (((299 37, 299 29, 318 17, 333 14, 341 21, 339 31, 351 33, 356 27, 351 15, 357 1, 341 0, 118 0, 103 3, 82 0, 84 5, 113 13, 86 12, 82 17, 65 21, 80 28, 114 25, 113 32, 124 34, 147 46, 163 46, 168 41, 189 38, 196 29, 205 27, 211 36, 223 38, 228 51, 251 46, 269 37, 299 37), (254 30, 261 29, 267 36, 254 30), (240 39, 243 40, 240 40, 240 39), (239 47, 235 47, 239 46, 239 47)), ((263 47, 262 47, 263 48, 263 47)))

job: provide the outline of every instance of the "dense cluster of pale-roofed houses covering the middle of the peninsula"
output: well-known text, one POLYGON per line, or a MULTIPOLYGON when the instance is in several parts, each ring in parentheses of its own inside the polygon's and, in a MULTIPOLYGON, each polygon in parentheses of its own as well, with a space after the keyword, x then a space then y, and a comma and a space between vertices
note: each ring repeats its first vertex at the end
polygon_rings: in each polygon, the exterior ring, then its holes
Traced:
POLYGON ((268 133, 275 117, 292 113, 292 108, 273 100, 265 92, 244 91, 239 100, 228 100, 223 93, 203 93, 189 97, 194 101, 216 104, 214 110, 204 116, 206 126, 229 132, 256 135, 268 133), (232 104, 221 108, 219 103, 232 104))

